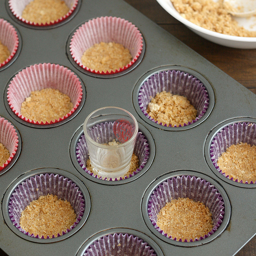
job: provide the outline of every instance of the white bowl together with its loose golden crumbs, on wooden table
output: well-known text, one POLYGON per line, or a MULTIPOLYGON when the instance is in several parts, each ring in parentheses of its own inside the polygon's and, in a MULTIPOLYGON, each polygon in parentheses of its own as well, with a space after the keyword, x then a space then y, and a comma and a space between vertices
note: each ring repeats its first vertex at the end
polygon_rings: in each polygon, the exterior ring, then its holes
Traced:
POLYGON ((237 16, 232 2, 223 0, 157 0, 188 29, 216 44, 256 49, 256 14, 237 16))

